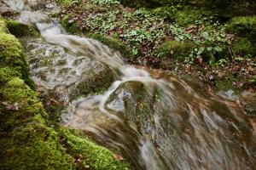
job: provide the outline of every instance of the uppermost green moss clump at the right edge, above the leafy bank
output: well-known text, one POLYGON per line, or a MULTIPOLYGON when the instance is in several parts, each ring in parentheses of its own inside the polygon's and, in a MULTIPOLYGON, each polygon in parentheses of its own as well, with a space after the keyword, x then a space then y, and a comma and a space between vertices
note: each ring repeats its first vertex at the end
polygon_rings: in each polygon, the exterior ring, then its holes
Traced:
POLYGON ((228 30, 241 37, 256 41, 256 16, 234 17, 230 20, 228 30))

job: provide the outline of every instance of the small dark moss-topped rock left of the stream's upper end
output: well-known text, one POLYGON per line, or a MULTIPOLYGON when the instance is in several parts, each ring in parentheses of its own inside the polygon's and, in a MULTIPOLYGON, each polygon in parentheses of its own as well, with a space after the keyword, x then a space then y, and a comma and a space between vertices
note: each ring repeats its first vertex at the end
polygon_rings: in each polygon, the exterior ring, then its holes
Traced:
POLYGON ((7 20, 7 27, 15 37, 39 37, 39 32, 32 26, 15 20, 7 20))

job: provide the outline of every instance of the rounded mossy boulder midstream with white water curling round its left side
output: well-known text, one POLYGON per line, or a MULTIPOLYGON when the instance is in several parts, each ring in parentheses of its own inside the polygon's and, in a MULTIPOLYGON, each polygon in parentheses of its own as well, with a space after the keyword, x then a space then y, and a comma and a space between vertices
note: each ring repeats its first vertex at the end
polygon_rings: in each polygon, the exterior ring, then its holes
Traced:
POLYGON ((150 90, 142 82, 124 82, 110 95, 106 107, 116 111, 125 121, 137 125, 144 132, 152 127, 154 113, 154 89, 150 90))

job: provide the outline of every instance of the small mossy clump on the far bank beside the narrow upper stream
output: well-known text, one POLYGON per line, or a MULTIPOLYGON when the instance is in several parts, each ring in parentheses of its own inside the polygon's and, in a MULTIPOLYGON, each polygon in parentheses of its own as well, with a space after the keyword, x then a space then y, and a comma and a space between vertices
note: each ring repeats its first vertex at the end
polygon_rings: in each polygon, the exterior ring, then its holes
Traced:
POLYGON ((79 30, 79 26, 75 21, 72 23, 69 22, 69 18, 71 14, 66 14, 61 18, 61 25, 71 34, 81 34, 82 32, 79 30))

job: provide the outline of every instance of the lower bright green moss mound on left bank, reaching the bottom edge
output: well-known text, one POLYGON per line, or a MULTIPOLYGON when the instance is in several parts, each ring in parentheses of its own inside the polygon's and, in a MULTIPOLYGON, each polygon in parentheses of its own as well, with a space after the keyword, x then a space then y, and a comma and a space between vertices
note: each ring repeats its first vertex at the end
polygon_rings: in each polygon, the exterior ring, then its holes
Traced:
POLYGON ((125 162, 115 161, 109 150, 90 139, 67 129, 58 133, 48 127, 48 116, 38 94, 20 78, 13 78, 0 89, 1 129, 8 132, 6 138, 0 139, 1 169, 78 169, 78 153, 86 158, 83 165, 93 169, 128 169, 125 162), (10 110, 2 105, 3 101, 9 105, 17 103, 18 108, 10 110), (62 135, 67 148, 62 145, 62 135))

